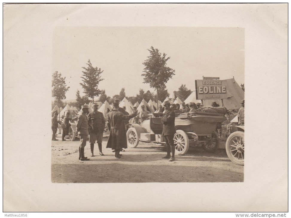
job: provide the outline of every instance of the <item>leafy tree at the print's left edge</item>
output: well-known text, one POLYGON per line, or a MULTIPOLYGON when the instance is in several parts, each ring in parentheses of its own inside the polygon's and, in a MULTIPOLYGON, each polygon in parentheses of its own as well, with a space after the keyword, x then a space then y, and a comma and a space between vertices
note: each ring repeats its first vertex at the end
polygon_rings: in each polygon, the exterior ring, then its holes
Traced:
MULTIPOLYGON (((54 97, 55 104, 57 104, 59 108, 64 105, 62 100, 66 99, 66 92, 70 88, 69 86, 67 87, 65 79, 66 78, 62 77, 62 74, 58 71, 52 74, 52 96, 54 97)), ((60 113, 60 111, 58 112, 60 113)))

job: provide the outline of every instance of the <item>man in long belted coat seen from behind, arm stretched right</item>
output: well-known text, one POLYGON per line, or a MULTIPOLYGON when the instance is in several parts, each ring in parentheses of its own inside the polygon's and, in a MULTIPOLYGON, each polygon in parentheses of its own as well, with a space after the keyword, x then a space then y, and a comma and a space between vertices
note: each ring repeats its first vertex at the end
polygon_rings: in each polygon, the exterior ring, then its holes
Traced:
POLYGON ((120 158, 119 154, 122 148, 127 148, 126 130, 124 120, 131 119, 137 115, 137 111, 130 115, 124 115, 124 113, 118 111, 119 101, 114 101, 113 109, 108 113, 107 121, 110 134, 106 148, 115 150, 115 157, 120 158))

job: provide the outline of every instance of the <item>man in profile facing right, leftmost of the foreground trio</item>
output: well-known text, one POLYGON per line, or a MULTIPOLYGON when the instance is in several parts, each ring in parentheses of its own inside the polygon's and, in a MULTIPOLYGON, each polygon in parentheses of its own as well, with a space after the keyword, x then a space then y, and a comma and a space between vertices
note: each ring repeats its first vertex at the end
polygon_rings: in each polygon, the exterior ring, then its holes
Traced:
POLYGON ((88 120, 87 120, 87 114, 89 112, 89 106, 88 105, 82 105, 82 114, 78 116, 77 120, 77 132, 80 135, 80 147, 79 147, 79 160, 90 160, 89 158, 85 157, 84 155, 84 148, 86 146, 86 139, 89 135, 88 131, 88 120))

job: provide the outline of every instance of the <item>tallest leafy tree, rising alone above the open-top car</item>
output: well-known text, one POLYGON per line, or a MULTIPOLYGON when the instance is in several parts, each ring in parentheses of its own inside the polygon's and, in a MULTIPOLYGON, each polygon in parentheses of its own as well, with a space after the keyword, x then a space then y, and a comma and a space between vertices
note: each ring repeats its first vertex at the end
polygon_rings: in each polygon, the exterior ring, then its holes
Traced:
POLYGON ((158 101, 159 89, 166 89, 166 83, 175 75, 175 70, 167 67, 167 61, 170 57, 166 58, 165 53, 160 53, 153 46, 148 51, 150 56, 143 63, 145 67, 141 76, 144 76, 144 83, 149 83, 150 87, 156 89, 158 101))

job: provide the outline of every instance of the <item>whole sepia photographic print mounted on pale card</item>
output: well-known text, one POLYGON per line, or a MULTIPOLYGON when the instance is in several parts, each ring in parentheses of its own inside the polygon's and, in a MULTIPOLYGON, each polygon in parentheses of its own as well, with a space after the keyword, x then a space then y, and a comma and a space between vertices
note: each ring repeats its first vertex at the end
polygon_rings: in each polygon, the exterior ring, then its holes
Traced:
POLYGON ((57 27, 52 182, 243 182, 244 34, 57 27))

